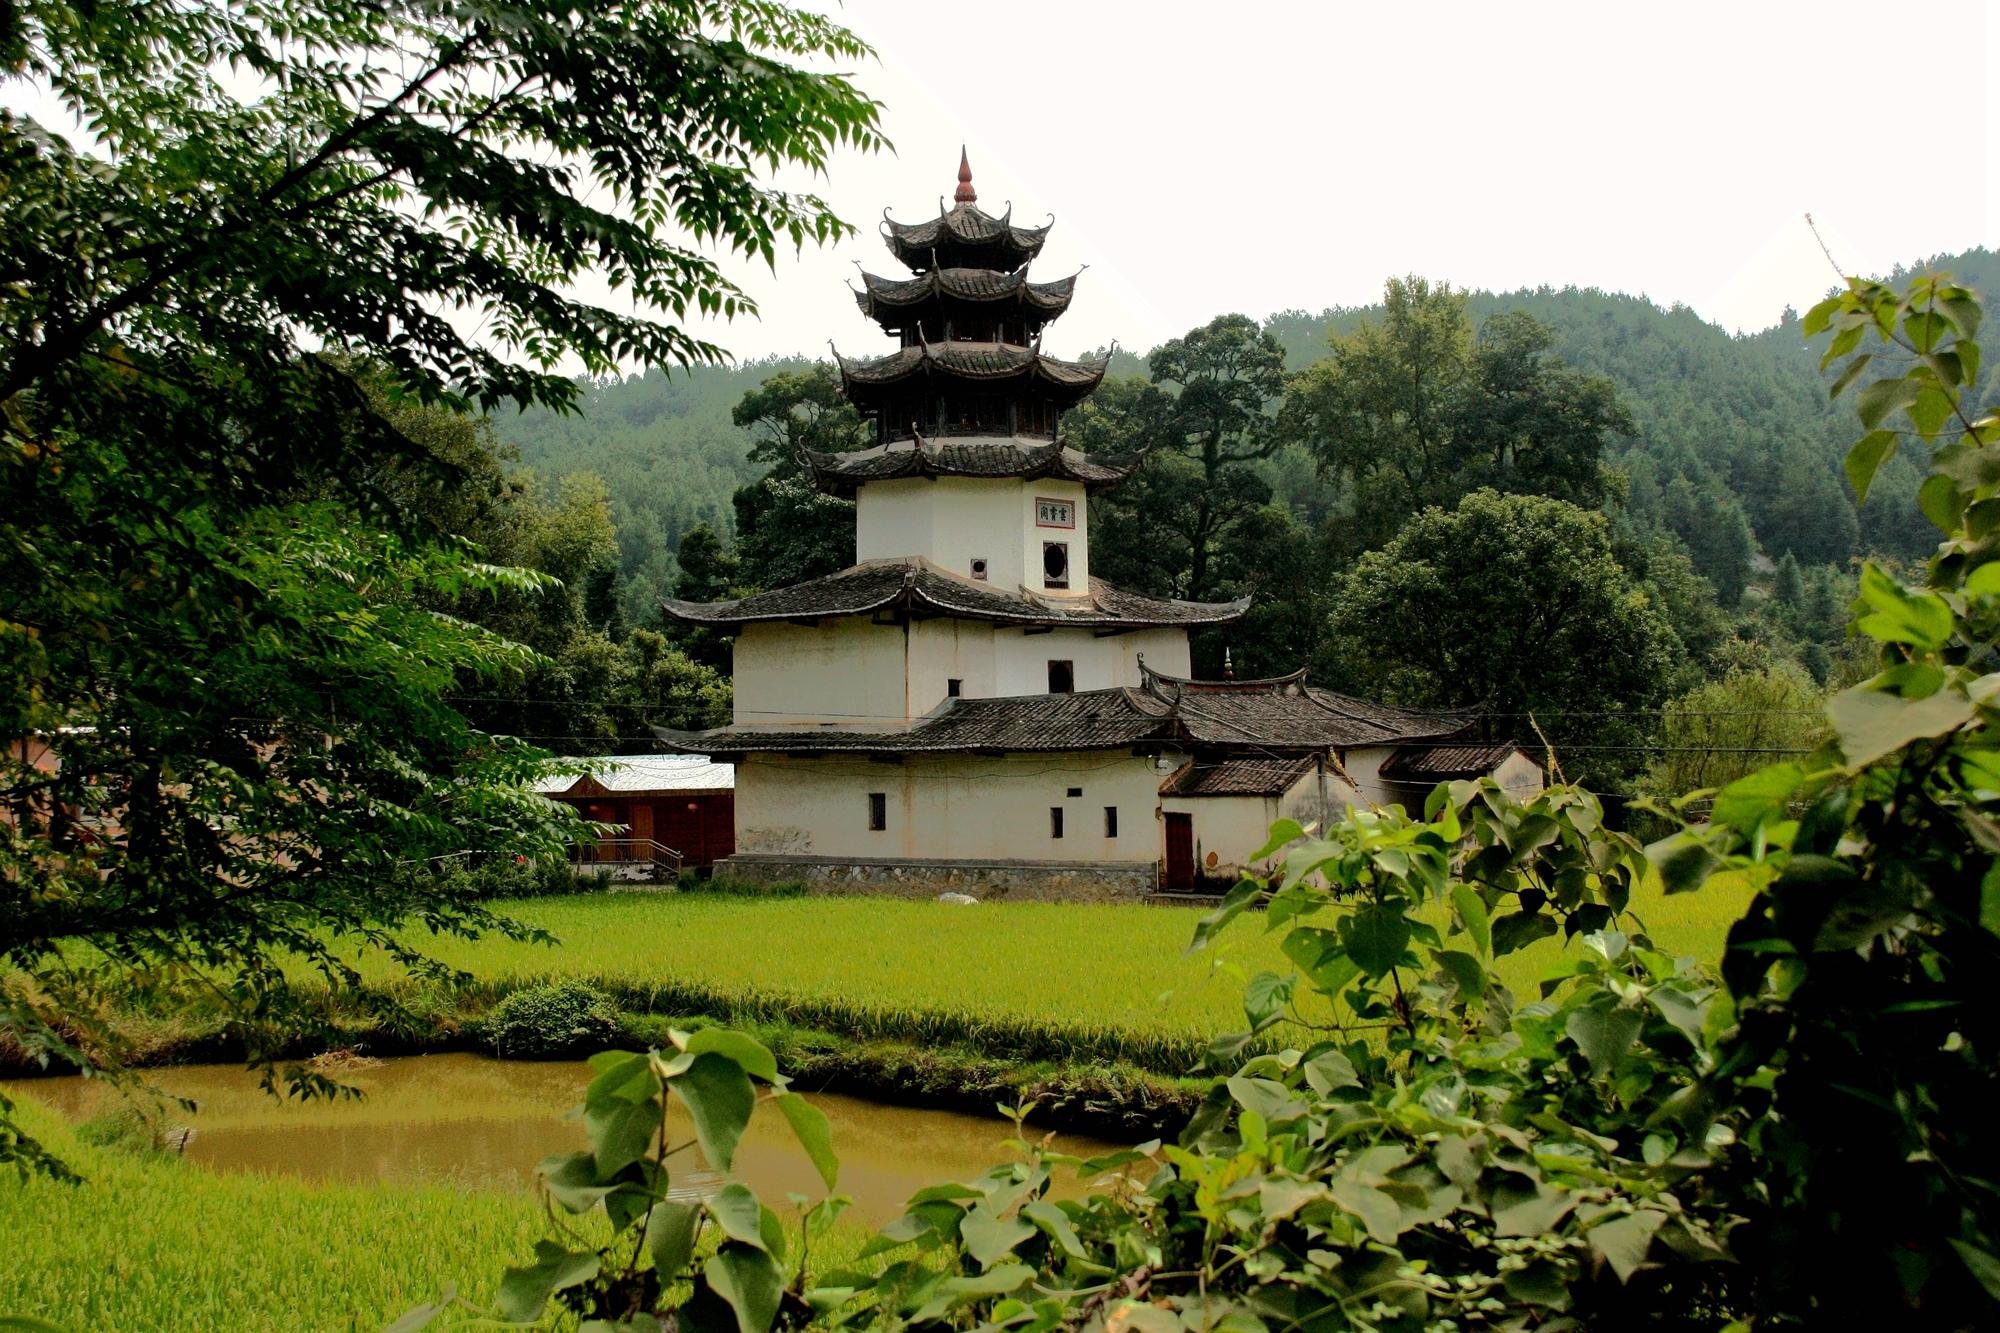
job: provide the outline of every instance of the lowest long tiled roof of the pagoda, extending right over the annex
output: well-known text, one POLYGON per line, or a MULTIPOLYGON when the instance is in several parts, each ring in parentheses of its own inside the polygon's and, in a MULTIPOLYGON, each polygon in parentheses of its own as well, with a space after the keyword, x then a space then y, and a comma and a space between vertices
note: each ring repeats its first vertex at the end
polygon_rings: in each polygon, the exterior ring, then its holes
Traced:
POLYGON ((1298 677, 1278 683, 1196 683, 1144 673, 1140 687, 1080 695, 952 699, 940 713, 904 731, 724 727, 686 733, 656 727, 654 733, 668 749, 694 755, 750 751, 922 755, 1178 745, 1216 751, 1242 747, 1258 751, 1258 759, 1274 759, 1272 751, 1296 757, 1330 747, 1420 741, 1462 731, 1466 719, 1454 715, 1382 709, 1312 691, 1302 687, 1298 677))

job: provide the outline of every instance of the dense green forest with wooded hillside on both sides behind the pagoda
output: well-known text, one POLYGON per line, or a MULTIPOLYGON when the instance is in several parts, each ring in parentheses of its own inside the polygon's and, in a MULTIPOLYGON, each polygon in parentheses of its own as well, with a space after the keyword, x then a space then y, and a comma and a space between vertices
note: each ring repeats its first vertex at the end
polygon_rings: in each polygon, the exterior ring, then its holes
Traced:
MULTIPOLYGON (((1986 250, 1924 266, 2000 290, 1986 250)), ((1994 396, 1986 364, 1978 400, 1994 396)), ((1494 729, 1542 729, 1618 787, 1686 749, 1676 717, 1710 747, 1784 749, 1732 745, 1742 737, 1716 739, 1702 719, 1774 691, 1810 707, 1846 671, 1854 560, 1926 552, 1916 446, 1856 506, 1828 382, 1792 310, 1732 336, 1636 296, 1406 278, 1384 304, 1222 316, 1146 358, 1120 352, 1066 430, 1086 448, 1152 450, 1134 484, 1096 502, 1104 576, 1156 594, 1256 592, 1244 624, 1198 640, 1200 671, 1228 652, 1238 675, 1312 664, 1358 693, 1482 705, 1494 729), (1404 378, 1422 384, 1414 400, 1404 378), (1478 500, 1486 490, 1562 512, 1478 500), (1432 506, 1454 522, 1418 532, 1432 506), (1552 562, 1578 574, 1560 648, 1572 671, 1546 671, 1562 634, 1522 642, 1518 669, 1496 664, 1510 566, 1548 576, 1552 562), (1698 717, 1676 715, 1698 691, 1698 717)), ((578 472, 602 480, 616 558, 592 600, 616 626, 598 630, 668 628, 658 596, 676 588, 718 596, 844 562, 846 510, 804 494, 788 460, 796 442, 852 438, 812 360, 598 380, 576 414, 494 426, 526 494, 556 496, 578 472)), ((678 646, 726 669, 718 644, 678 646)), ((644 743, 620 735, 606 745, 644 743)))

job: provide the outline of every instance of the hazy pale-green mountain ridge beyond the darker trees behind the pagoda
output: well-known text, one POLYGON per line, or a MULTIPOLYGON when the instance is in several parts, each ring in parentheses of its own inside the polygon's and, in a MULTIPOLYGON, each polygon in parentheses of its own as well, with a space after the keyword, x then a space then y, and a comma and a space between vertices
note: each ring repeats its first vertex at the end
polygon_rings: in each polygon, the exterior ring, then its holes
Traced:
MULTIPOLYGON (((1912 268, 1948 270, 2000 300, 2000 256, 1992 250, 1936 256, 1912 268)), ((1526 310, 1556 330, 1564 360, 1618 384, 1636 422, 1634 436, 1612 450, 1614 464, 1630 478, 1630 518, 1674 528, 1698 564, 1700 544, 1712 536, 1706 528, 1734 522, 1732 510, 1768 556, 1790 550, 1802 564, 1846 562, 1866 550, 1914 556, 1928 548, 1928 526, 1914 502, 1920 468, 1912 458, 1892 460, 1876 494, 1854 510, 1840 470, 1854 438, 1852 406, 1828 402, 1820 348, 1800 338, 1796 312, 1762 332, 1730 334, 1686 306, 1552 286, 1472 292, 1468 308, 1474 326, 1500 310, 1526 310)), ((1264 324, 1284 344, 1288 364, 1300 368, 1326 354, 1328 334, 1352 330, 1374 310, 1286 310, 1264 324)), ((1996 342, 2000 318, 1982 336, 1988 354, 1976 402, 1996 396, 1996 342)), ((810 360, 764 358, 592 382, 576 414, 526 412, 496 426, 540 476, 592 470, 606 480, 626 604, 650 608, 672 584, 682 534, 698 522, 726 532, 730 494, 760 472, 748 462, 750 438, 730 422, 730 408, 766 376, 810 360)), ((1144 370, 1144 358, 1130 352, 1112 362, 1112 374, 1144 370)))

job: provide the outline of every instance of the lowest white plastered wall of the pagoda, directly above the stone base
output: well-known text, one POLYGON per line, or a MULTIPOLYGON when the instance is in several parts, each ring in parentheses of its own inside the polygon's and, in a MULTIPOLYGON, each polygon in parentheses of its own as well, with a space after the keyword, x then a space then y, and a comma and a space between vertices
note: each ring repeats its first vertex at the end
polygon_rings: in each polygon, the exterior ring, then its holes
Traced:
POLYGON ((1128 751, 1040 755, 746 755, 736 765, 736 851, 852 861, 1160 859, 1160 775, 1128 751), (1082 795, 1070 797, 1070 789, 1082 795), (888 827, 868 829, 882 793, 888 827), (1052 837, 1050 809, 1062 809, 1052 837), (1118 809, 1118 837, 1104 833, 1118 809))

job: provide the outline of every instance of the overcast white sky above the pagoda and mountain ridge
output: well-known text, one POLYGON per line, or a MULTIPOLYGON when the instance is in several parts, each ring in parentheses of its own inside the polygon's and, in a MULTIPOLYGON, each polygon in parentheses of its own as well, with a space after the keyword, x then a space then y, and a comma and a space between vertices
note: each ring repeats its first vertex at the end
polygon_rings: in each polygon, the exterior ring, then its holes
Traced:
POLYGON ((934 216, 960 142, 984 208, 1056 216, 1038 276, 1090 264, 1058 354, 1364 304, 1402 272, 1638 292, 1754 330, 1832 280, 1806 212, 1852 270, 2000 242, 2000 18, 1978 0, 828 8, 880 54, 854 72, 896 154, 816 182, 858 238, 732 268, 764 316, 714 332, 746 358, 880 350, 846 280, 854 260, 902 272, 882 208, 934 216), (1912 106, 1930 62, 1978 116, 1912 106), (1828 110, 1836 86, 1884 98, 1828 110), (1878 190, 1940 154, 1950 196, 1878 190))

